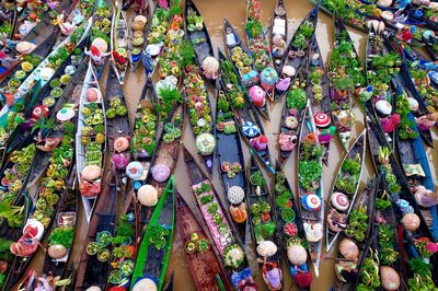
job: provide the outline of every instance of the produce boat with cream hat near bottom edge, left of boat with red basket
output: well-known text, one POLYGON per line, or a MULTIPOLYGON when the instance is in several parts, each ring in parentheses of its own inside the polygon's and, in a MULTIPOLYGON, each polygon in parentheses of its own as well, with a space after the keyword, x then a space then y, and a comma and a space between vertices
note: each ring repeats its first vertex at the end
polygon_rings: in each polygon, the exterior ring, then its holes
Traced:
POLYGON ((255 253, 260 258, 260 268, 263 280, 269 290, 281 290, 283 271, 281 254, 278 252, 276 241, 275 208, 272 194, 268 190, 266 179, 256 163, 254 155, 251 155, 247 170, 246 202, 250 209, 250 228, 254 242, 255 253))

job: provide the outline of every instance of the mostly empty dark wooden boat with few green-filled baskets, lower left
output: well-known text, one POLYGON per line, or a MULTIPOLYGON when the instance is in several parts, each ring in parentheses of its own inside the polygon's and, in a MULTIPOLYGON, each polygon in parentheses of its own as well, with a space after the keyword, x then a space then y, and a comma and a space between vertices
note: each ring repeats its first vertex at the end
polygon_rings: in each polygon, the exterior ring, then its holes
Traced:
POLYGON ((113 237, 117 223, 117 186, 114 174, 105 184, 95 206, 95 211, 90 220, 90 228, 83 242, 81 260, 78 266, 74 290, 87 290, 90 287, 99 287, 105 290, 110 275, 110 252, 112 244, 108 237, 113 237), (102 249, 97 253, 99 244, 102 249), (106 260, 104 259, 106 258, 106 260))

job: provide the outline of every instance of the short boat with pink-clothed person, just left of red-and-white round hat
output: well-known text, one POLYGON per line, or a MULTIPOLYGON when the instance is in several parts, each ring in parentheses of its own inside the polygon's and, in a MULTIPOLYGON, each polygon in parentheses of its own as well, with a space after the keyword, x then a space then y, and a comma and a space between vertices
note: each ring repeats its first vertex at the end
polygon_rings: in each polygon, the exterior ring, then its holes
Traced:
POLYGON ((277 144, 279 149, 279 162, 281 165, 286 163, 292 154, 298 143, 300 135, 300 125, 306 110, 307 102, 307 77, 304 67, 301 67, 293 81, 293 88, 286 94, 286 102, 283 107, 283 115, 278 130, 277 144))

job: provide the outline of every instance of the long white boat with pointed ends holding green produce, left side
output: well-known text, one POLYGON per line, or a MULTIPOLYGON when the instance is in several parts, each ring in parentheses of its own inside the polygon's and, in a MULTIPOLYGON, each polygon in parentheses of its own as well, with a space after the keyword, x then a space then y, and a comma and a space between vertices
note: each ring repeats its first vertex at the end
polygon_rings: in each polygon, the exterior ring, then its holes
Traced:
POLYGON ((79 101, 76 135, 76 166, 87 221, 90 221, 101 193, 106 152, 105 107, 93 67, 90 60, 79 101))

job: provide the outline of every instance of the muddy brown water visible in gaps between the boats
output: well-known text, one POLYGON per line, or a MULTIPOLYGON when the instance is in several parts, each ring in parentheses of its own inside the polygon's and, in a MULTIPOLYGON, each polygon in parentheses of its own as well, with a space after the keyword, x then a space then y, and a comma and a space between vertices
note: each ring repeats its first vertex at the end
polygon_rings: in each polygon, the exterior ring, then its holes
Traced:
MULTIPOLYGON (((223 23, 223 18, 228 18, 230 22, 238 28, 238 32, 242 39, 243 37, 243 32, 244 32, 244 21, 245 21, 245 7, 246 7, 246 1, 245 0, 194 0, 195 4, 199 9, 199 12, 204 16, 204 20, 207 24, 208 32, 210 34, 214 47, 220 47, 222 50, 224 49, 223 45, 223 31, 222 31, 222 23, 223 23)), ((313 4, 311 4, 308 0, 286 0, 286 5, 287 5, 287 13, 288 13, 288 39, 291 38, 292 34, 297 30, 299 23, 301 20, 309 13, 309 11, 312 9, 313 4)), ((272 22, 272 15, 274 12, 275 8, 275 0, 262 0, 261 1, 261 7, 263 9, 263 22, 264 26, 267 27, 270 25, 272 22)), ((130 13, 128 13, 129 15, 130 13)), ((351 35, 353 40, 355 42, 355 46, 359 51, 360 57, 364 59, 365 57, 365 43, 366 43, 366 35, 355 31, 353 28, 348 28, 351 35)), ((330 51, 333 46, 333 25, 332 25, 332 19, 328 18, 326 14, 323 12, 320 12, 319 21, 318 21, 318 27, 316 27, 316 37, 318 42, 321 47, 321 51, 324 58, 324 61, 327 59, 330 56, 330 51)), ((141 67, 141 66, 140 66, 141 67)), ((107 69, 107 68, 106 68, 107 69)), ((104 89, 105 86, 105 80, 106 77, 103 75, 101 79, 101 85, 104 89)), ((158 80, 158 77, 154 75, 154 80, 158 80)), ((138 69, 136 73, 131 73, 130 71, 128 72, 128 75, 125 81, 124 85, 124 93, 125 97, 127 100, 128 108, 129 108, 129 116, 131 120, 134 119, 135 115, 135 108, 137 106, 137 102, 140 97, 141 90, 145 83, 145 74, 142 72, 142 68, 138 69)), ((211 88, 210 88, 210 93, 211 93, 211 88)), ((216 100, 214 97, 214 94, 210 94, 210 101, 212 105, 216 104, 216 100)), ((278 126, 279 126, 279 117, 281 116, 280 112, 283 108, 284 100, 278 101, 276 104, 269 104, 270 107, 270 121, 269 123, 264 123, 265 126, 265 131, 267 132, 267 136, 269 138, 269 149, 270 149, 270 155, 274 159, 275 156, 278 155, 278 150, 276 149, 276 132, 278 131, 278 126)), ((214 110, 215 112, 215 110, 214 110)), ((364 115, 358 108, 357 104, 355 105, 355 113, 357 114, 357 119, 358 121, 355 125, 355 130, 353 132, 353 139, 356 139, 356 137, 359 136, 359 133, 364 130, 364 115)), ((436 132, 434 131, 434 138, 436 138, 436 132)), ((243 143, 243 141, 242 141, 243 143)), ((184 144, 193 153, 195 153, 195 147, 194 147, 194 138, 191 132, 191 127, 186 126, 185 128, 185 136, 184 136, 184 144)), ((243 143, 244 144, 244 143, 243 143)), ((437 142, 435 142, 435 146, 437 146, 437 142)), ((249 152, 247 152, 247 147, 243 146, 244 152, 245 152, 245 160, 249 162, 249 152)), ((429 161, 437 161, 438 159, 438 153, 431 151, 430 149, 427 150, 427 154, 429 158, 429 161)), ((332 188, 332 185, 334 183, 334 177, 337 173, 337 168, 339 167, 341 161, 344 158, 345 152, 342 150, 341 143, 338 139, 334 139, 331 144, 331 152, 330 152, 330 166, 324 167, 324 193, 327 196, 330 194, 330 189, 332 188)), ((175 170, 175 176, 176 176, 176 186, 180 190, 180 193, 185 197, 187 201, 189 201, 192 209, 195 211, 195 213, 199 217, 200 214, 196 208, 195 201, 193 199, 193 195, 188 185, 188 176, 186 174, 186 168, 184 165, 183 159, 181 159, 177 162, 176 170, 175 170)), ((196 156, 197 158, 197 156, 196 156)), ((198 159, 198 162, 199 159, 198 159)), ((431 164, 431 170, 433 170, 433 175, 434 175, 434 181, 435 177, 437 176, 437 167, 435 166, 435 163, 431 164)), ((285 172, 287 174, 288 181, 291 183, 292 187, 295 187, 296 193, 297 193, 297 152, 295 151, 291 158, 288 160, 288 162, 285 164, 285 172)), ((266 172, 265 172, 266 174, 266 172)), ((367 150, 366 154, 366 167, 362 172, 361 176, 361 187, 365 186, 365 183, 367 182, 367 178, 370 177, 371 175, 374 174, 374 171, 372 168, 372 163, 370 160, 370 154, 369 151, 367 150)), ((223 188, 221 186, 221 182, 219 179, 218 171, 217 171, 217 163, 215 161, 215 173, 212 176, 212 181, 217 189, 219 190, 220 195, 223 195, 223 188)), ((268 177, 268 176, 267 176, 268 177)), ((272 182, 272 177, 269 177, 269 181, 272 182)), ((270 184, 269 184, 270 185, 270 184)), ((222 196, 223 197, 223 196, 222 196)), ((176 225, 176 223, 175 223, 176 225)), ((82 252, 83 247, 83 240, 84 236, 87 235, 88 231, 88 223, 85 220, 85 217, 83 216, 82 209, 80 209, 79 212, 79 226, 78 231, 76 234, 76 240, 74 240, 74 246, 72 249, 72 255, 71 255, 71 261, 78 265, 78 261, 80 259, 80 255, 82 252)), ((47 235, 48 237, 48 235, 47 235)), ((46 240, 47 241, 47 240, 46 240)), ((44 245, 46 245, 47 242, 45 242, 44 245)), ((249 245, 246 247, 247 255, 250 257, 250 260, 252 261, 252 266, 256 266, 256 263, 254 263, 254 251, 252 248, 253 245, 249 245)), ((312 290, 330 290, 332 283, 333 283, 333 278, 334 278, 334 269, 333 269, 333 257, 335 257, 336 251, 332 251, 331 254, 323 254, 325 259, 321 263, 320 266, 320 276, 319 278, 313 279, 312 283, 312 290)), ((32 266, 38 273, 42 270, 44 263, 44 252, 43 249, 38 251, 37 257, 34 259, 32 263, 32 266)), ((258 271, 258 268, 253 268, 255 270, 255 279, 258 283, 260 290, 267 290, 265 284, 263 283, 262 276, 258 271)), ((170 277, 170 273, 174 271, 175 273, 175 290, 176 291, 189 291, 189 290, 195 290, 188 266, 185 260, 185 254, 184 254, 184 248, 183 244, 180 241, 178 233, 175 231, 174 233, 174 240, 173 240, 173 246, 172 246, 172 254, 170 258, 170 263, 168 266, 168 272, 166 272, 166 280, 170 277)), ((289 275, 289 271, 286 266, 284 266, 284 290, 296 290, 296 287, 292 286, 292 280, 289 275)))

